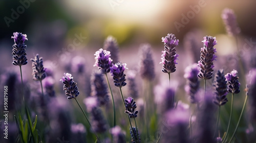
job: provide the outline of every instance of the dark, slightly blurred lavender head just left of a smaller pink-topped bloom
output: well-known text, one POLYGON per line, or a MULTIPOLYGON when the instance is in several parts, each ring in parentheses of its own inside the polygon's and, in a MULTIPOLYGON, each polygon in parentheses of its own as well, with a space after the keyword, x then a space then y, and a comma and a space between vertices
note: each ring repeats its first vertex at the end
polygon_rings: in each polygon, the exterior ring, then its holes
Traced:
POLYGON ((223 69, 217 71, 214 78, 214 103, 221 106, 227 103, 227 81, 223 73, 223 69))

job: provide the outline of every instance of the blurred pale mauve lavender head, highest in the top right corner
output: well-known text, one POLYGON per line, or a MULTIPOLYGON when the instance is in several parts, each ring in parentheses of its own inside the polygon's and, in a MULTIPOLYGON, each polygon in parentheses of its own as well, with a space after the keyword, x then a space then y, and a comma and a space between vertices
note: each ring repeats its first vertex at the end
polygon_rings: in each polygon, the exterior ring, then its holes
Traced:
POLYGON ((240 33, 240 28, 238 27, 237 17, 234 15, 233 10, 225 8, 222 11, 221 17, 226 26, 226 31, 229 35, 234 36, 240 33))

